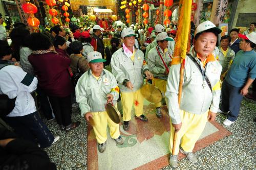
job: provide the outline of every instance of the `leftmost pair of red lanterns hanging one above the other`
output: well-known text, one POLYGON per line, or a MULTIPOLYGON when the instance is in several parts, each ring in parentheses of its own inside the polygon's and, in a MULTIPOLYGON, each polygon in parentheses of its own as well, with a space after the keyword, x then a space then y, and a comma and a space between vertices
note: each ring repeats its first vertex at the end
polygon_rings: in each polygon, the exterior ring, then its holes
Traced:
POLYGON ((31 4, 28 0, 22 5, 22 9, 25 13, 30 14, 30 17, 27 19, 28 24, 32 27, 38 27, 40 21, 34 16, 34 14, 37 12, 37 7, 34 4, 31 4))

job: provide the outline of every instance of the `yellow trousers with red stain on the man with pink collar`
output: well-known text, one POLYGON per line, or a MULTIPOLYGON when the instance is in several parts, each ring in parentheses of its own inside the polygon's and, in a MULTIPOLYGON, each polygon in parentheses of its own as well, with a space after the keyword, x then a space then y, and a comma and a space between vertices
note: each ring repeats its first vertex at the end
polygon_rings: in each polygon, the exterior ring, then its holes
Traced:
POLYGON ((123 121, 131 120, 133 105, 137 117, 143 114, 144 97, 140 89, 133 92, 121 92, 121 102, 123 105, 123 121))

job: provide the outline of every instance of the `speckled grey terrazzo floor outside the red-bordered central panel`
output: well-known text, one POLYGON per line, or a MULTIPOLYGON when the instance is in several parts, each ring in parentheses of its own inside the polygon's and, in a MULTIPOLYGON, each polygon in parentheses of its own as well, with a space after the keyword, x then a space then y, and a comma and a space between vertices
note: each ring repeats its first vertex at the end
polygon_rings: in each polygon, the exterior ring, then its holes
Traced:
MULTIPOLYGON (((225 127, 232 134, 198 151, 197 164, 184 158, 176 169, 256 169, 255 117, 256 102, 244 99, 236 123, 225 127)), ((219 114, 216 121, 221 124, 225 118, 219 114)), ((45 151, 58 169, 87 169, 87 122, 80 116, 78 107, 73 108, 72 119, 81 125, 70 132, 60 131, 55 121, 44 119, 50 131, 60 136, 59 141, 45 151)))

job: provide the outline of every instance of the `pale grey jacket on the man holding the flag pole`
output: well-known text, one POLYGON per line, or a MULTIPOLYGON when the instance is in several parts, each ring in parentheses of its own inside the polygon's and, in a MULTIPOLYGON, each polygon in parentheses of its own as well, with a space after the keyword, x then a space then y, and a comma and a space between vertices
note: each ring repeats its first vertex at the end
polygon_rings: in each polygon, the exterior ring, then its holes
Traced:
MULTIPOLYGON (((196 53, 193 50, 190 52, 201 68, 203 68, 202 62, 196 58, 196 53)), ((209 61, 205 68, 205 74, 208 77, 212 92, 203 80, 203 76, 196 66, 196 64, 186 56, 184 70, 184 81, 182 89, 181 104, 178 104, 178 91, 180 81, 180 64, 172 65, 167 80, 167 87, 165 96, 168 100, 168 113, 172 118, 174 124, 181 123, 180 110, 187 111, 193 114, 203 114, 208 109, 214 113, 217 113, 220 102, 220 75, 221 65, 217 60, 209 61), (218 83, 218 84, 217 84, 218 83), (219 85, 219 86, 218 86, 219 85), (216 86, 218 88, 216 88, 216 86), (214 88, 215 87, 215 88, 214 88)))

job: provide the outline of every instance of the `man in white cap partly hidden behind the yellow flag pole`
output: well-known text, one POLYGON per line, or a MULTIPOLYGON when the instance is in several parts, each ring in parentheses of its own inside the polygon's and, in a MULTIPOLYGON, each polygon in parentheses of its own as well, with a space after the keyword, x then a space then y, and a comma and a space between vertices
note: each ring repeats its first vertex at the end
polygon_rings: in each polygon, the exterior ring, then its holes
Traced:
MULTIPOLYGON (((166 32, 156 36, 157 46, 148 53, 147 64, 150 71, 154 74, 153 84, 164 94, 166 91, 169 65, 172 61, 172 51, 168 48, 168 41, 173 41, 166 32)), ((162 117, 161 102, 156 103, 156 115, 162 117)))

